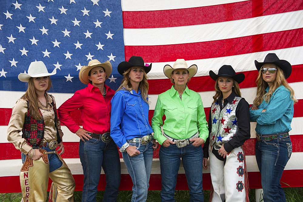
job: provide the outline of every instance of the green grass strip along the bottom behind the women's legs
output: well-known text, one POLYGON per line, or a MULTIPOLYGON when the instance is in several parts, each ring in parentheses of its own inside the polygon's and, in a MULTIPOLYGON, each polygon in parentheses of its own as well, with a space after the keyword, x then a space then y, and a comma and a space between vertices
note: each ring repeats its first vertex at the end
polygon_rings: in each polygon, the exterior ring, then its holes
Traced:
MULTIPOLYGON (((287 202, 302 202, 303 201, 303 187, 288 187, 284 188, 286 201, 287 202)), ((104 191, 98 191, 97 202, 101 202, 103 199, 104 191)), ((74 201, 81 202, 82 191, 75 191, 74 201)), ((20 202, 22 198, 21 193, 6 193, 0 194, 0 202, 20 202)), ((132 199, 132 191, 119 191, 118 202, 128 202, 132 199)), ((176 202, 188 202, 189 191, 188 190, 177 190, 175 192, 176 202)), ((160 191, 149 190, 147 195, 147 202, 160 202, 160 191)), ((204 190, 204 202, 209 201, 209 190, 204 190)), ((255 190, 251 189, 249 193, 249 201, 256 202, 255 190)))

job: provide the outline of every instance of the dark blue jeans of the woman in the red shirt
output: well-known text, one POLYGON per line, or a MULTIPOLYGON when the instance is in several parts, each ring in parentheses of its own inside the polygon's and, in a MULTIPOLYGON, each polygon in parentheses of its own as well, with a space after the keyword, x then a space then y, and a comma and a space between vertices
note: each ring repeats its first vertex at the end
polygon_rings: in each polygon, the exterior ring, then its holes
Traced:
POLYGON ((95 202, 101 167, 106 175, 103 202, 116 201, 121 180, 120 158, 113 140, 104 143, 92 138, 80 140, 79 156, 84 174, 82 202, 95 202))

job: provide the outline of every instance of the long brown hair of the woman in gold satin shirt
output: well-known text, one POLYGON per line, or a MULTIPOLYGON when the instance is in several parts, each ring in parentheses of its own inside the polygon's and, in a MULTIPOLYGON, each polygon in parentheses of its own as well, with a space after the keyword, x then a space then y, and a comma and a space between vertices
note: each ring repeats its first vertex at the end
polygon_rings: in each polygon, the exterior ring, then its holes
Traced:
MULTIPOLYGON (((45 90, 45 93, 49 89, 51 89, 51 87, 52 87, 52 81, 51 81, 51 78, 49 78, 49 76, 48 76, 48 86, 47 86, 47 89, 45 90)), ((35 90, 33 77, 31 77, 28 80, 28 88, 27 88, 25 94, 21 98, 28 101, 29 113, 32 115, 32 117, 35 120, 38 121, 38 120, 43 119, 43 117, 40 115, 40 112, 39 112, 40 104, 38 103, 38 94, 36 93, 36 90, 35 90)))

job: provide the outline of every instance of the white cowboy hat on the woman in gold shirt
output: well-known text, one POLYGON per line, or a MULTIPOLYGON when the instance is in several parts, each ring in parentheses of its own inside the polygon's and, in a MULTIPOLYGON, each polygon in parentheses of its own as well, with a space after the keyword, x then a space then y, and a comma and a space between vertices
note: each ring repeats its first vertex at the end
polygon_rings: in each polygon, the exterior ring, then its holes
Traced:
POLYGON ((45 64, 42 61, 31 62, 28 67, 27 73, 20 73, 18 79, 22 82, 28 82, 31 77, 43 77, 43 76, 52 76, 56 74, 56 68, 52 73, 48 73, 45 64))

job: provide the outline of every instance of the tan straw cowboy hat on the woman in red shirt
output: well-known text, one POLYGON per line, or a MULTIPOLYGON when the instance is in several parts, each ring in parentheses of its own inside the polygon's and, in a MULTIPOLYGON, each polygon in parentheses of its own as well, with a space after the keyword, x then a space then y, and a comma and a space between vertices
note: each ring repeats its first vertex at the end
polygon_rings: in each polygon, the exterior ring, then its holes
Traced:
POLYGON ((80 69, 79 72, 80 81, 84 84, 88 84, 89 83, 89 79, 87 78, 88 72, 94 67, 99 67, 99 66, 103 67, 106 72, 105 79, 107 79, 112 74, 112 64, 109 61, 101 63, 97 59, 94 59, 88 62, 88 66, 83 66, 80 69))

